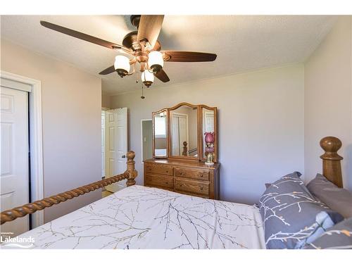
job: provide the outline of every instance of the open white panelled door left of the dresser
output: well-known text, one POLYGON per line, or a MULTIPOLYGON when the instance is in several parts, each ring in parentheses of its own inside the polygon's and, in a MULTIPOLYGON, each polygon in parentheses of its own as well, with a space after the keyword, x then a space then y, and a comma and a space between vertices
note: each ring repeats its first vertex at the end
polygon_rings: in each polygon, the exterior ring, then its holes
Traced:
MULTIPOLYGON (((127 169, 127 108, 106 111, 106 178, 121 174, 127 169)), ((110 184, 108 191, 119 191, 126 187, 126 180, 110 184)))

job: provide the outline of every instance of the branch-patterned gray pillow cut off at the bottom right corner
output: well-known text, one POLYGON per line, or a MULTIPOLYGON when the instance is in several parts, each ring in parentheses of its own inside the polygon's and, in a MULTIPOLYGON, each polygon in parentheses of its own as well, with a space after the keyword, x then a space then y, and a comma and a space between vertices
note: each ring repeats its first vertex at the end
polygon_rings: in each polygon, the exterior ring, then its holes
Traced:
POLYGON ((330 227, 304 249, 352 249, 352 218, 330 227))

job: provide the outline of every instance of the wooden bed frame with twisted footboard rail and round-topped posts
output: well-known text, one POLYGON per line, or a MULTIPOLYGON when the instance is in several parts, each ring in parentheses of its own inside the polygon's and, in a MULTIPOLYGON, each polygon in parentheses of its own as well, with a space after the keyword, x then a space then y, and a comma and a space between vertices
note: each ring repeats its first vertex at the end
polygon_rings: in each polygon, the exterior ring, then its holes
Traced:
MULTIPOLYGON (((337 137, 325 137, 320 140, 320 146, 324 149, 325 153, 320 156, 322 158, 322 174, 333 182, 338 187, 342 188, 342 174, 341 174, 341 160, 343 159, 337 151, 341 148, 341 141, 337 137)), ((134 169, 134 152, 127 152, 127 170, 108 179, 101 180, 99 182, 93 182, 91 184, 65 191, 62 194, 56 194, 48 198, 44 198, 33 203, 27 203, 24 206, 19 206, 11 210, 4 210, 1 212, 0 220, 1 225, 5 222, 10 222, 16 218, 22 218, 25 215, 35 213, 37 210, 44 210, 46 207, 54 206, 55 204, 73 199, 74 197, 87 194, 89 191, 94 191, 105 187, 106 185, 119 182, 120 180, 127 179, 127 187, 136 184, 134 180, 137 177, 137 170, 134 169)))

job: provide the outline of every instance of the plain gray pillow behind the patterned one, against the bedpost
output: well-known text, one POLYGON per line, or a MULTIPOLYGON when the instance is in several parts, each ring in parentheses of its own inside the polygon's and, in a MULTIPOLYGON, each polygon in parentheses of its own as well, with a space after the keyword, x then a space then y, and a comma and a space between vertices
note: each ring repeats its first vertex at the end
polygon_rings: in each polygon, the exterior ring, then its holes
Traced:
POLYGON ((340 213, 344 218, 352 217, 351 192, 337 187, 321 174, 317 174, 307 184, 307 188, 317 199, 325 203, 329 208, 332 208, 332 210, 340 213))

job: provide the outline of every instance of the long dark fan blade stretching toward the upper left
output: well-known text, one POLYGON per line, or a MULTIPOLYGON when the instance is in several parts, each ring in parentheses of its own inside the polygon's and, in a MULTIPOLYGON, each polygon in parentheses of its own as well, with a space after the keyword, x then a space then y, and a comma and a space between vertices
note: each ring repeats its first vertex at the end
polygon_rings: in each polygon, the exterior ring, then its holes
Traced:
POLYGON ((40 25, 42 25, 43 27, 47 27, 51 30, 55 30, 57 32, 61 32, 63 34, 68 34, 71 37, 76 37, 77 39, 85 40, 86 42, 90 42, 90 43, 97 44, 100 46, 105 46, 108 49, 123 49, 127 53, 131 53, 131 51, 129 49, 125 48, 122 45, 115 44, 113 42, 108 42, 106 40, 99 39, 98 37, 93 37, 89 34, 84 34, 82 32, 78 32, 76 30, 70 30, 67 27, 61 27, 61 25, 55 25, 53 23, 49 23, 46 21, 40 21, 40 25))

